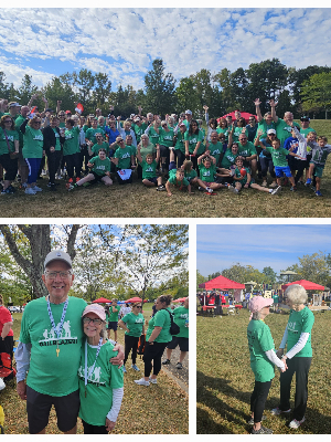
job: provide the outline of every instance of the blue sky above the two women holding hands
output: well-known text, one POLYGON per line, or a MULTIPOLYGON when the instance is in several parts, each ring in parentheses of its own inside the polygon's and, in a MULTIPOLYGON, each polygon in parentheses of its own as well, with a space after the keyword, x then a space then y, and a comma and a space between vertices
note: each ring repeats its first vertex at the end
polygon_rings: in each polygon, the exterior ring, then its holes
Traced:
POLYGON ((207 276, 232 264, 270 266, 279 274, 299 257, 331 252, 331 225, 196 225, 196 269, 207 276))

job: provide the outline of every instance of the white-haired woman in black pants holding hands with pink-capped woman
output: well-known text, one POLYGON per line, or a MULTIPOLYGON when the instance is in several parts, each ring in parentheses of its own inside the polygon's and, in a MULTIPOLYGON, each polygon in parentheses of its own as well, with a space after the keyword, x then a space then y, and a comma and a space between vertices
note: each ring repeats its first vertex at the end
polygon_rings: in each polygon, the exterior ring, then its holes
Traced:
POLYGON ((313 313, 305 306, 308 301, 306 290, 299 285, 290 285, 285 292, 286 303, 290 306, 290 315, 277 351, 278 357, 288 366, 280 375, 280 402, 271 410, 273 414, 289 413, 291 380, 296 373, 296 397, 292 420, 289 427, 298 429, 305 422, 308 400, 308 372, 311 365, 311 329, 314 323, 313 313), (285 346, 287 351, 284 354, 285 346))

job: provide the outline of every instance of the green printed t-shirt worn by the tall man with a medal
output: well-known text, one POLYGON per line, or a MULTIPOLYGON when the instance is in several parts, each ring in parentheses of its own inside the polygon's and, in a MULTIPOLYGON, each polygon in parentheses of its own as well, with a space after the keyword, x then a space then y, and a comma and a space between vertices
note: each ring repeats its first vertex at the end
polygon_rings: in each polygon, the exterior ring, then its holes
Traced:
MULTIPOLYGON (((51 304, 56 326, 64 304, 51 304)), ((45 297, 31 301, 24 308, 20 341, 31 344, 30 369, 26 385, 50 396, 67 396, 78 389, 78 366, 83 343, 82 314, 84 299, 68 297, 56 356, 56 334, 52 327, 45 297)))

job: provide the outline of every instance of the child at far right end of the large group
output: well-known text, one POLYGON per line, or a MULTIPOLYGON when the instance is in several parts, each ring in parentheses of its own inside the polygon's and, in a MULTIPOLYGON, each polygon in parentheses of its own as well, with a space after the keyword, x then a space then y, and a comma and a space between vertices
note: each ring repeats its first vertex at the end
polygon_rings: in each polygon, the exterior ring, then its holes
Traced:
POLYGON ((316 177, 316 196, 321 197, 321 178, 323 176, 324 166, 327 162, 328 155, 331 152, 331 145, 327 145, 328 138, 319 136, 318 143, 308 141, 308 145, 312 148, 311 161, 309 164, 308 178, 306 186, 311 185, 311 177, 316 177))

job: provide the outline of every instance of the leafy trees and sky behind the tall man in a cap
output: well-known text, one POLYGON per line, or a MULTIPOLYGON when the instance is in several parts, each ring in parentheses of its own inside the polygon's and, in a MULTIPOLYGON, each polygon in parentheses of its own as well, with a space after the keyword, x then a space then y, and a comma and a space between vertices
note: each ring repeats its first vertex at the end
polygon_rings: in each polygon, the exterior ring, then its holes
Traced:
POLYGON ((75 274, 70 295, 154 299, 188 296, 188 225, 0 224, 0 293, 14 305, 47 292, 43 263, 66 251, 75 274))

